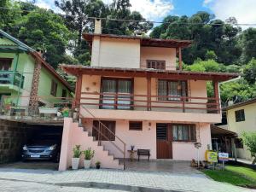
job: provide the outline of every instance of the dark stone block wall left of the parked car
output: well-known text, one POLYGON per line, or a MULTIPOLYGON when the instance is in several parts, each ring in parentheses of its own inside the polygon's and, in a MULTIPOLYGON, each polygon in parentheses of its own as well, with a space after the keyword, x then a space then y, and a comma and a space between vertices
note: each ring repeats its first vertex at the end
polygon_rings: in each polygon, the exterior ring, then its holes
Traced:
POLYGON ((24 123, 0 119, 0 163, 20 160, 27 130, 24 123))

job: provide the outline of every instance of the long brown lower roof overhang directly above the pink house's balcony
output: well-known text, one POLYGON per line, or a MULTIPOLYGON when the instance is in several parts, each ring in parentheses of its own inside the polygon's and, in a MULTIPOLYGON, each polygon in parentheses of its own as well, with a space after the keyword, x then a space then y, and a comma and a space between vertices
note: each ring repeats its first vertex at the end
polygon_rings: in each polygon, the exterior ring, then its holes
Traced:
POLYGON ((79 76, 82 74, 113 76, 113 77, 151 77, 159 79, 194 79, 226 81, 239 77, 237 73, 199 73, 188 71, 167 71, 142 68, 119 68, 119 67, 88 67, 82 65, 61 65, 63 71, 79 76))

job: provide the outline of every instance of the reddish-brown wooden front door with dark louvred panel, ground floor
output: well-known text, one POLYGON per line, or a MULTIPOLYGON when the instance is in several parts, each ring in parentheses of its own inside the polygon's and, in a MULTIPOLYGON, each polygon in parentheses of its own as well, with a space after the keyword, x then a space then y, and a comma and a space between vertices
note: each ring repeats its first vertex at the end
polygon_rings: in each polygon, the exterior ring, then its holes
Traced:
POLYGON ((172 126, 156 124, 157 159, 172 159, 172 126))

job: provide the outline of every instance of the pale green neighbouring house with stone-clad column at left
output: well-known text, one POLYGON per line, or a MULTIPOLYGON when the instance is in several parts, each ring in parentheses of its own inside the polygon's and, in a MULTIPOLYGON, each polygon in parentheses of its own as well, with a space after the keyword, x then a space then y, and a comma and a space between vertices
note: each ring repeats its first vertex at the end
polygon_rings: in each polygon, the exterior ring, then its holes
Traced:
POLYGON ((71 92, 40 53, 0 30, 0 101, 9 96, 15 106, 37 107, 70 97, 71 92))

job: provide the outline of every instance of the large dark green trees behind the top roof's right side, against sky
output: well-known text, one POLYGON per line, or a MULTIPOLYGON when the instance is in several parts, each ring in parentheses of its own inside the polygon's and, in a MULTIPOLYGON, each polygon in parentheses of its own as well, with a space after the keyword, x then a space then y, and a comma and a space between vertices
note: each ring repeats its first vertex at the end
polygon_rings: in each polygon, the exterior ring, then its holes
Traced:
POLYGON ((168 23, 155 27, 150 37, 193 40, 193 44, 183 50, 183 61, 189 65, 196 58, 208 59, 208 50, 217 55, 216 59, 220 63, 236 63, 241 55, 241 46, 237 44, 241 28, 212 19, 213 15, 207 12, 198 12, 191 17, 169 15, 163 20, 168 23))

